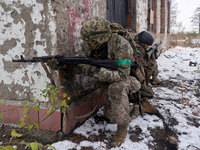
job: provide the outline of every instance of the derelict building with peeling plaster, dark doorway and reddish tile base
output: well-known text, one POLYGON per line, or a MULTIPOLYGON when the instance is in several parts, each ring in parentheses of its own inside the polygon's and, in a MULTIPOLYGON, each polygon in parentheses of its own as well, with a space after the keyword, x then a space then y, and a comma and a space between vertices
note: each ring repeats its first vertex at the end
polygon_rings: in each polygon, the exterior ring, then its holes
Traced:
MULTIPOLYGON (((107 18, 130 29, 133 35, 148 30, 155 42, 163 42, 161 50, 169 45, 169 0, 1 0, 0 4, 0 99, 4 100, 0 112, 6 123, 20 124, 22 102, 34 97, 48 101, 41 90, 51 82, 40 63, 12 60, 20 59, 20 55, 25 59, 75 56, 81 50, 81 25, 88 18, 107 18)), ((70 108, 64 116, 56 111, 43 122, 40 120, 46 118, 46 109, 32 110, 30 122, 40 122, 42 129, 68 133, 85 120, 73 116, 88 113, 99 103, 95 98, 99 95, 98 84, 89 77, 72 75, 70 69, 69 80, 59 77, 58 71, 49 72, 56 86, 65 85, 63 91, 71 97, 70 108)), ((102 97, 98 107, 104 101, 102 97)))

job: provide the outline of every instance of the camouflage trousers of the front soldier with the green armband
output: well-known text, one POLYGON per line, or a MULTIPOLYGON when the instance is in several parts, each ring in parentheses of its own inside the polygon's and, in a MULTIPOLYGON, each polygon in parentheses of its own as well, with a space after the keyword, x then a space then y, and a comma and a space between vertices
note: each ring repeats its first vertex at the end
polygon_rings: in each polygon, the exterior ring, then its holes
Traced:
POLYGON ((112 123, 128 126, 130 117, 129 95, 141 88, 140 82, 129 76, 126 80, 114 82, 105 87, 106 103, 104 115, 112 123))

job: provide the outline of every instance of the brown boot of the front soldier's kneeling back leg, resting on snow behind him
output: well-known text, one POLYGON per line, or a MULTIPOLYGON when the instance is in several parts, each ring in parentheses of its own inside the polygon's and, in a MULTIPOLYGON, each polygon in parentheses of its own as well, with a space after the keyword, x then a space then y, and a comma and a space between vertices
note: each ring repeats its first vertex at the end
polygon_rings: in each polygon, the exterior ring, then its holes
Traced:
POLYGON ((145 97, 142 98, 140 106, 141 106, 141 113, 158 115, 158 110, 156 109, 156 107, 151 105, 145 97))

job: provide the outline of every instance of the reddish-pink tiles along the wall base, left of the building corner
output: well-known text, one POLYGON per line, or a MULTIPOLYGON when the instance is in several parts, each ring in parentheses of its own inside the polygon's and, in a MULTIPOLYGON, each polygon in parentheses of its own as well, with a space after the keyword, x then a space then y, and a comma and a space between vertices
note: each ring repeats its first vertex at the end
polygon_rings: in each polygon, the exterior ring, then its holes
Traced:
MULTIPOLYGON (((31 119, 27 120, 29 124, 39 123, 40 129, 57 132, 61 130, 61 117, 60 112, 55 111, 52 115, 47 115, 47 109, 41 108, 40 111, 36 111, 31 108, 27 113, 23 113, 24 106, 17 105, 13 102, 10 104, 0 104, 0 112, 3 115, 3 121, 1 123, 20 125, 20 119, 24 115, 30 115, 31 119)), ((26 126, 27 127, 27 126, 26 126)))

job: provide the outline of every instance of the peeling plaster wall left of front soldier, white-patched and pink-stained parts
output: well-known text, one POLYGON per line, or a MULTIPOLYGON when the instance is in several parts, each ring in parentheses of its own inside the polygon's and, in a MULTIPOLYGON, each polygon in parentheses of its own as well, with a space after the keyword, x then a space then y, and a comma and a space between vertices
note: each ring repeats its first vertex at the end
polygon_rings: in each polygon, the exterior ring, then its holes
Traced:
MULTIPOLYGON (((41 64, 13 63, 12 59, 19 59, 21 54, 26 59, 76 55, 82 22, 92 16, 105 17, 105 5, 105 0, 1 0, 0 98, 39 98, 40 90, 50 82, 41 64)), ((58 79, 58 72, 54 77, 58 79)))

